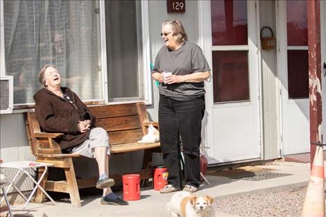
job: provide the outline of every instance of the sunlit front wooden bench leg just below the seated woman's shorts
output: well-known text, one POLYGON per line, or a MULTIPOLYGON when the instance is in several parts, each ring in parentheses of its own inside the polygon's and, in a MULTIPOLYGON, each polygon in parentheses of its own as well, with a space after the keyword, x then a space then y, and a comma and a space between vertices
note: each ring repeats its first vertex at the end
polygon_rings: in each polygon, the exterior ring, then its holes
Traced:
POLYGON ((68 168, 65 168, 65 174, 66 174, 67 189, 69 191, 71 204, 74 207, 81 207, 74 163, 72 162, 71 157, 67 159, 67 166, 68 168))

